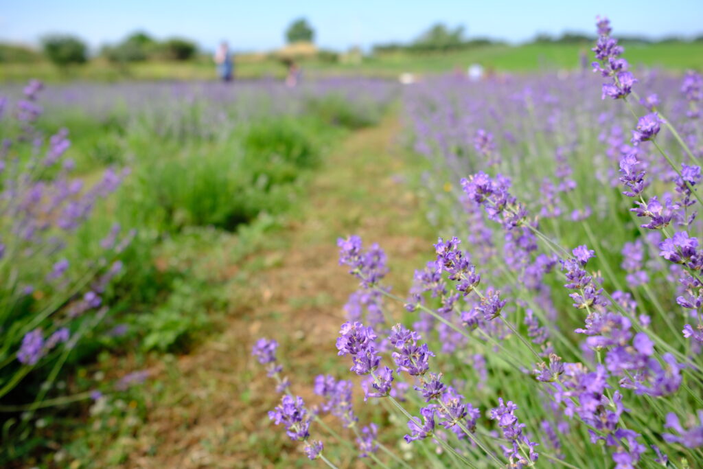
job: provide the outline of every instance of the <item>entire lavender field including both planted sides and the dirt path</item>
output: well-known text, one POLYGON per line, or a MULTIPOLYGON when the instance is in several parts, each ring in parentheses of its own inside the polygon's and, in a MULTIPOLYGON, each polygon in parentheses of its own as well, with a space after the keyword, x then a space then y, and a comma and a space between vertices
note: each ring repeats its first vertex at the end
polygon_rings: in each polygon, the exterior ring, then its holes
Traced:
POLYGON ((559 72, 1 86, 1 463, 703 467, 703 77, 595 28, 559 72))

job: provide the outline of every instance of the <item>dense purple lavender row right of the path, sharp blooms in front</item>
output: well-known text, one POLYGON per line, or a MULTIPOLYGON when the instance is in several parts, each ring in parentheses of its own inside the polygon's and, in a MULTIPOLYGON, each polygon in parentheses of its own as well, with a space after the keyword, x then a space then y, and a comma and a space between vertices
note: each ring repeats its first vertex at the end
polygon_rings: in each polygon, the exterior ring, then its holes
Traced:
POLYGON ((413 463, 382 443, 402 427, 359 428, 351 381, 318 377, 320 407, 293 397, 262 339, 285 394, 270 417, 310 458, 335 466, 318 441, 343 443, 330 412, 381 467, 703 465, 703 79, 635 75, 598 30, 595 75, 406 91, 432 168, 418 191, 445 238, 405 297, 378 245, 340 240, 361 285, 336 345, 364 399, 407 423, 413 463))

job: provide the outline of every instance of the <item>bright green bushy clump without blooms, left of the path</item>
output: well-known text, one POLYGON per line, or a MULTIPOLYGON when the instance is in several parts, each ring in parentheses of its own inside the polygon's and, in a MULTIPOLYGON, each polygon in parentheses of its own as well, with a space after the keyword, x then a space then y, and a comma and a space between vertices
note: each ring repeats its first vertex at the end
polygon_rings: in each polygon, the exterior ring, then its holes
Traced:
POLYGON ((122 197, 124 205, 140 207, 136 223, 163 231, 207 225, 233 230, 260 212, 285 210, 285 185, 317 158, 314 143, 295 122, 270 120, 205 153, 184 150, 145 160, 122 197))

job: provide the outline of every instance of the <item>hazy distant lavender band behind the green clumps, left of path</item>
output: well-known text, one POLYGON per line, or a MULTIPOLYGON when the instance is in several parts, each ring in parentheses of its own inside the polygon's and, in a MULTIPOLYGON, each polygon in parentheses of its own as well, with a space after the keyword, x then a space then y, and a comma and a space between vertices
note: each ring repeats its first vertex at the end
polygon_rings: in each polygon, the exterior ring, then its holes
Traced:
MULTIPOLYGON (((19 97, 21 91, 8 86, 4 93, 19 97)), ((247 120, 270 115, 304 115, 333 104, 330 101, 343 101, 348 112, 363 120, 362 124, 370 124, 380 116, 378 104, 389 102, 396 91, 397 86, 392 82, 349 77, 304 82, 292 89, 277 80, 236 84, 86 82, 51 86, 44 91, 42 105, 49 114, 53 110, 79 110, 98 120, 115 115, 134 117, 138 113, 139 119, 129 124, 134 127, 146 123, 158 136, 218 138, 247 120)))

